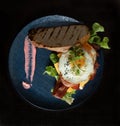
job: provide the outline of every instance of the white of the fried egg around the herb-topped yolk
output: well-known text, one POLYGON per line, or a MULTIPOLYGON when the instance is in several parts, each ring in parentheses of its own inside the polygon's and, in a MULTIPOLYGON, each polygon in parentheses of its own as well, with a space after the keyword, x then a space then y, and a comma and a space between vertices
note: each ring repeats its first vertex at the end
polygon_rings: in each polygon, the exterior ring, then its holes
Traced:
POLYGON ((96 51, 94 48, 89 48, 89 51, 86 48, 82 48, 84 52, 84 64, 80 67, 80 72, 76 74, 76 71, 73 70, 72 65, 69 62, 70 52, 62 53, 59 59, 59 71, 64 80, 72 83, 79 84, 90 78, 90 75, 94 73, 94 64, 96 61, 96 51))

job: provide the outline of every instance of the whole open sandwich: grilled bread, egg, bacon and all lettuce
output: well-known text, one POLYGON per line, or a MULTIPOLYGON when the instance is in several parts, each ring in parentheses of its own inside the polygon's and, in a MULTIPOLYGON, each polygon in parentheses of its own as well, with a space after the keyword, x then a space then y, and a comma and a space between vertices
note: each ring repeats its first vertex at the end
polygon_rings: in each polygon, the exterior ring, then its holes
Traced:
POLYGON ((34 28, 28 32, 31 43, 38 48, 51 50, 53 65, 46 66, 44 74, 55 77, 51 89, 54 97, 72 104, 74 94, 94 79, 99 64, 97 50, 109 49, 108 37, 101 37, 103 26, 94 23, 89 31, 85 25, 69 25, 49 28, 34 28))

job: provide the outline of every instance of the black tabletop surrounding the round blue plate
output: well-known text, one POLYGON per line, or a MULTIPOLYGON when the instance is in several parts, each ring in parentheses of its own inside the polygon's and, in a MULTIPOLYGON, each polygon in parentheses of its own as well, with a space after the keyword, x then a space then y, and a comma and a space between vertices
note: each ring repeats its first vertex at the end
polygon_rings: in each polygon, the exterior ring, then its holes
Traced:
POLYGON ((17 0, 0 2, 0 126, 117 126, 119 114, 120 0, 17 0), (47 15, 65 15, 91 26, 105 27, 110 50, 104 51, 100 87, 83 105, 67 111, 49 112, 23 101, 12 87, 8 72, 10 46, 29 22, 47 15))

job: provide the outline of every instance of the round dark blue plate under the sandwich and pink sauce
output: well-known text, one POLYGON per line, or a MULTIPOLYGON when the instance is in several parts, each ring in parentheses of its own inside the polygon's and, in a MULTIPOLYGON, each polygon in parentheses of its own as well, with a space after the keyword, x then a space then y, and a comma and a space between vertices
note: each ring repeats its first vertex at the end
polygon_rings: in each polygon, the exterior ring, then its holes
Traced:
POLYGON ((74 95, 75 100, 72 105, 68 105, 66 102, 56 99, 51 95, 51 88, 55 84, 55 79, 43 75, 45 67, 49 65, 49 54, 51 51, 46 49, 38 49, 36 55, 36 69, 32 82, 32 87, 28 90, 22 86, 22 81, 25 80, 24 70, 24 39, 27 36, 28 30, 38 26, 49 27, 59 26, 67 24, 81 23, 73 18, 61 16, 61 15, 50 15, 39 19, 36 19, 26 25, 16 36, 9 52, 9 73, 12 80, 12 84, 18 94, 25 99, 28 103, 37 108, 44 110, 60 111, 66 109, 72 109, 76 106, 81 105, 86 101, 97 89, 100 83, 100 79, 103 71, 103 53, 99 51, 98 63, 100 64, 99 69, 94 80, 90 81, 83 90, 77 91, 74 95))

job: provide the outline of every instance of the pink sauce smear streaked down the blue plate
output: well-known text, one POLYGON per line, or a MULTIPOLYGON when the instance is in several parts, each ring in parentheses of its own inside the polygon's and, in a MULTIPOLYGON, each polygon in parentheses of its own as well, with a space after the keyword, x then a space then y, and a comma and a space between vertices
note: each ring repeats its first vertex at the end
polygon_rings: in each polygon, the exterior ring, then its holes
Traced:
MULTIPOLYGON (((30 42, 28 36, 25 38, 24 41, 24 56, 25 56, 25 74, 26 79, 29 83, 22 82, 23 87, 24 85, 32 85, 34 72, 35 72, 35 64, 36 64, 36 48, 35 46, 30 42)), ((27 86, 29 87, 29 86, 27 86)), ((25 88, 26 89, 26 88, 25 88)))

